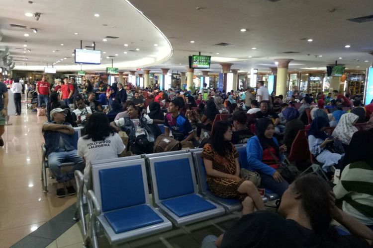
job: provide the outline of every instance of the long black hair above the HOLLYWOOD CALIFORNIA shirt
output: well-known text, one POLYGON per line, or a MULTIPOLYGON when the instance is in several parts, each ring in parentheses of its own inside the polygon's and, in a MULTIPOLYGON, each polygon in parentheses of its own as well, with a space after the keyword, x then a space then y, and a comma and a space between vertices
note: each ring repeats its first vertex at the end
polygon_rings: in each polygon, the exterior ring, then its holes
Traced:
POLYGON ((84 139, 92 138, 92 141, 105 140, 106 137, 114 135, 113 128, 109 125, 109 119, 102 112, 94 112, 88 119, 85 127, 87 136, 84 139))

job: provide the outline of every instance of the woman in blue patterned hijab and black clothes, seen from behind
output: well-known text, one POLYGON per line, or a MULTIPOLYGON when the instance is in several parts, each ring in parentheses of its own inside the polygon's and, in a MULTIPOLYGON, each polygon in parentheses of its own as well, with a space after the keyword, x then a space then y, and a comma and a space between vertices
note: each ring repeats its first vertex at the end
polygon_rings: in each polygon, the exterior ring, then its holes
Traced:
POLYGON ((286 120, 283 143, 286 145, 287 150, 290 151, 291 144, 298 131, 304 129, 304 124, 298 119, 299 112, 295 108, 286 108, 281 113, 286 120))

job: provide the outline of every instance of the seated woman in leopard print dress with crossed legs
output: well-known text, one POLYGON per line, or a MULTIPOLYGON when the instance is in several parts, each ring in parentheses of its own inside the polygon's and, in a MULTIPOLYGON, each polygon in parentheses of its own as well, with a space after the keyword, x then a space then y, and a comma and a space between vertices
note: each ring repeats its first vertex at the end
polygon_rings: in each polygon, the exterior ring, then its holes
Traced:
POLYGON ((203 147, 202 158, 206 169, 206 181, 210 191, 222 198, 234 198, 242 202, 242 213, 264 210, 264 203, 256 186, 240 178, 238 153, 230 142, 232 126, 217 122, 211 141, 203 147))

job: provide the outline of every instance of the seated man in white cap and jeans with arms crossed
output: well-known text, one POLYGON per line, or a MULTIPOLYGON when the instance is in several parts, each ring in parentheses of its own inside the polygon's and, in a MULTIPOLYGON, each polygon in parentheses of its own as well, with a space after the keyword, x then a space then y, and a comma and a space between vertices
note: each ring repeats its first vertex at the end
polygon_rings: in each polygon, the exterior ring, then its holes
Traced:
POLYGON ((83 171, 85 162, 78 156, 76 150, 76 140, 73 134, 74 128, 71 124, 65 122, 66 110, 61 108, 53 109, 50 113, 52 122, 43 124, 43 136, 47 150, 49 169, 57 180, 57 197, 65 197, 66 184, 69 195, 76 193, 72 181, 74 180, 74 171, 83 171), (68 172, 61 172, 61 163, 72 161, 75 166, 68 172))

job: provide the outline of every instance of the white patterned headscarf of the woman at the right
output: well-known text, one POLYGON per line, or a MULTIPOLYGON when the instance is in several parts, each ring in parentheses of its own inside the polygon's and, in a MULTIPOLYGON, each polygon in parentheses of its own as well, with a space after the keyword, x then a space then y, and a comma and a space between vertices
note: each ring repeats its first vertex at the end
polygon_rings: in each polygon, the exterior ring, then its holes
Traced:
POLYGON ((359 120, 359 116, 353 113, 344 114, 333 131, 333 136, 342 141, 343 144, 349 145, 352 135, 358 131, 354 124, 359 120))

